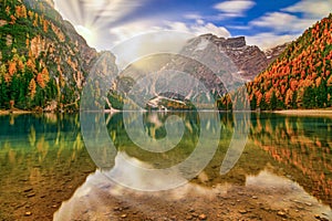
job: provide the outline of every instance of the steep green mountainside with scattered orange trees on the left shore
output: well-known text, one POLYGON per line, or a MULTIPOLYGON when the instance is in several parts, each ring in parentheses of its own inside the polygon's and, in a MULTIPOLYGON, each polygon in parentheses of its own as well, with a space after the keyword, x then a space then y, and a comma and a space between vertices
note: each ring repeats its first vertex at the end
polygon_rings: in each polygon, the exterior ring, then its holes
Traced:
POLYGON ((52 0, 0 4, 0 108, 77 109, 97 52, 52 0))

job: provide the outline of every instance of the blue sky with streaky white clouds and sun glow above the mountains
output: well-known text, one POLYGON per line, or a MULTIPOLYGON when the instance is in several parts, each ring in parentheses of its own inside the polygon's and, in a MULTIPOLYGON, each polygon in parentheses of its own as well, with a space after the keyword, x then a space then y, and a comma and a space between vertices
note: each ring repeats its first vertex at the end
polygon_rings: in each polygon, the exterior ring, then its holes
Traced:
POLYGON ((178 31, 246 36, 262 50, 290 42, 332 12, 332 0, 54 0, 90 46, 111 50, 137 34, 178 31))

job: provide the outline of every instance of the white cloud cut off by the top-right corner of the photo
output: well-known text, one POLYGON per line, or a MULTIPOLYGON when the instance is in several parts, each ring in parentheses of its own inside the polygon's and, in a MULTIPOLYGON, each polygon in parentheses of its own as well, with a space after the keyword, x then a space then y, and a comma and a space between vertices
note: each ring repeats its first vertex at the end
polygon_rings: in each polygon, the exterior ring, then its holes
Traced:
POLYGON ((328 17, 332 11, 332 1, 331 0, 302 0, 298 3, 283 9, 282 11, 287 12, 302 12, 307 17, 314 17, 317 19, 322 19, 328 17))

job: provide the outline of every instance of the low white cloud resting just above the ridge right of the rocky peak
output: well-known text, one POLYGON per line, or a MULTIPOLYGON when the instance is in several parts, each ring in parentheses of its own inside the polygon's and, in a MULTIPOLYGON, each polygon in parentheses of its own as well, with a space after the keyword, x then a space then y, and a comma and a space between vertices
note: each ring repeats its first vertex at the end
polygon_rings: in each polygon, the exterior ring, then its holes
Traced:
POLYGON ((272 32, 259 33, 252 36, 246 36, 247 43, 249 45, 258 45, 262 50, 268 50, 273 46, 283 44, 286 42, 291 42, 298 38, 297 34, 282 34, 278 35, 272 32))

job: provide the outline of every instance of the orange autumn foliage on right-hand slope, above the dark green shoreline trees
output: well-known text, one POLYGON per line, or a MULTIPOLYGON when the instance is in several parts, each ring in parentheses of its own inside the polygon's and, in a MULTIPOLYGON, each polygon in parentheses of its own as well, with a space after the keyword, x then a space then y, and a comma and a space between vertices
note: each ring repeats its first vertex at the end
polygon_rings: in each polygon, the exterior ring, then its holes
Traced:
MULTIPOLYGON (((294 41, 268 70, 248 84, 249 95, 256 94, 258 104, 262 94, 268 102, 271 90, 280 101, 291 102, 298 92, 298 102, 303 98, 305 87, 318 87, 323 82, 332 86, 332 14, 317 22, 302 36, 294 41), (329 45, 329 46, 328 46, 329 45)), ((252 96, 250 96, 252 99, 252 96)))

